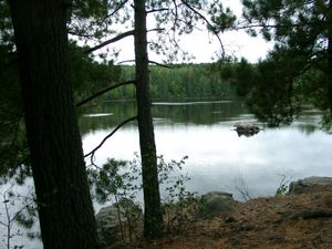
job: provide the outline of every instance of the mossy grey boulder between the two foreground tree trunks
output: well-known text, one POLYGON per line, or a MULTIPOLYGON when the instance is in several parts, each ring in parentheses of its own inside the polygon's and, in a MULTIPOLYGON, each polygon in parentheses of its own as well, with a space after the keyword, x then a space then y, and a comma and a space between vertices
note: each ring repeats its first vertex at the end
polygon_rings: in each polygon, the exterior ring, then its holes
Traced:
POLYGON ((100 243, 105 246, 120 241, 132 232, 129 229, 136 226, 134 222, 139 222, 142 217, 141 207, 131 199, 101 208, 95 215, 100 243))

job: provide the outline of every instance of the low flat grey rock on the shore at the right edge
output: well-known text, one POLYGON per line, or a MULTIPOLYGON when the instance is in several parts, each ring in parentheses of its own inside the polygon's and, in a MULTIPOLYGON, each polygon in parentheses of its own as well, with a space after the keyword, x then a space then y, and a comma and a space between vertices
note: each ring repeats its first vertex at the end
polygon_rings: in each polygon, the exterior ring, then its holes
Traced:
POLYGON ((303 194, 309 191, 332 190, 332 177, 311 176, 292 181, 289 185, 289 194, 303 194))

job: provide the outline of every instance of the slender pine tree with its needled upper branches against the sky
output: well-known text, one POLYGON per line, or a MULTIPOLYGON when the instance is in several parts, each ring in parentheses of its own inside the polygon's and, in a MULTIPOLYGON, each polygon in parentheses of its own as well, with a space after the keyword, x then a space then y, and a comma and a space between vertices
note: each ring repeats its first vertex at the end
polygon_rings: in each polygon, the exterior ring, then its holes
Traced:
MULTIPOLYGON (((134 35, 135 43, 135 87, 137 100, 137 120, 139 132, 139 145, 142 155, 143 168, 143 187, 145 200, 145 230, 146 237, 155 237, 160 232, 160 197, 158 189, 158 175, 157 175, 157 157, 156 145, 154 138, 154 127, 151 115, 151 98, 149 98, 149 75, 148 75, 148 49, 153 49, 157 53, 168 55, 168 60, 176 60, 179 55, 178 35, 183 33, 190 33, 195 24, 200 20, 207 23, 209 30, 216 34, 215 27, 208 21, 207 18, 200 12, 204 7, 210 7, 205 1, 195 0, 176 0, 176 1, 101 1, 106 4, 103 11, 98 12, 92 22, 72 22, 72 30, 81 38, 90 38, 92 34, 102 38, 102 35, 110 35, 116 33, 114 30, 108 30, 111 23, 126 23, 131 21, 129 27, 134 24, 133 30, 120 32, 116 37, 106 41, 100 41, 100 44, 91 48, 89 52, 96 51, 105 45, 112 44, 121 39, 134 35), (134 6, 134 8, 132 8, 134 6), (134 13, 133 13, 134 12, 134 13), (157 28, 147 30, 146 15, 154 14, 157 28), (134 20, 131 20, 134 17, 134 20), (132 24, 133 23, 133 24, 132 24), (90 27, 87 32, 86 25, 90 27), (97 31, 97 32, 95 32, 97 31), (159 35, 157 42, 149 41, 147 46, 147 32, 156 31, 159 35), (173 35, 169 35, 173 34, 173 35), (174 44, 167 46, 167 44, 174 44)), ((101 4, 103 6, 103 4, 101 4)), ((218 1, 214 2, 214 8, 219 8, 218 1)), ((204 13, 207 13, 204 12, 204 13)), ((77 13, 77 17, 81 13, 77 13)), ((74 14, 75 15, 75 14, 74 14)), ((84 15, 84 13, 83 13, 84 15)), ((219 38, 219 37, 218 37, 219 38)), ((221 40, 219 39, 220 43, 221 40)), ((180 55, 186 56, 184 52, 180 55)), ((127 121, 132 121, 128 118, 127 121)), ((125 124, 127 122, 123 122, 125 124)))

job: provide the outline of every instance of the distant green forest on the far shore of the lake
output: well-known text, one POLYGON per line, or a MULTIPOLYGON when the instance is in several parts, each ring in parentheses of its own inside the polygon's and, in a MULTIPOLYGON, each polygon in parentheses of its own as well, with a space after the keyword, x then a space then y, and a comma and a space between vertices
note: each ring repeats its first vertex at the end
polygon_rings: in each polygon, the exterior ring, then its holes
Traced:
MULTIPOLYGON (((120 81, 134 79, 134 66, 121 66, 120 81)), ((152 65, 151 94, 153 100, 220 98, 235 95, 234 87, 222 81, 210 64, 179 64, 172 69, 152 65)), ((133 86, 121 87, 105 95, 104 100, 135 97, 133 86)))

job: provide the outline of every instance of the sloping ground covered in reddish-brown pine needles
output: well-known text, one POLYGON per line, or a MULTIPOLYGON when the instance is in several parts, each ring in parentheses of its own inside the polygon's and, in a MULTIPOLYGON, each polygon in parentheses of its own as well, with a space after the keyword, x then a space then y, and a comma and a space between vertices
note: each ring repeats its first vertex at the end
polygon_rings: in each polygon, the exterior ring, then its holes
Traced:
POLYGON ((195 221, 181 232, 117 248, 332 249, 332 188, 237 203, 235 211, 195 221))

